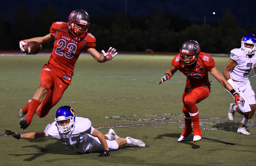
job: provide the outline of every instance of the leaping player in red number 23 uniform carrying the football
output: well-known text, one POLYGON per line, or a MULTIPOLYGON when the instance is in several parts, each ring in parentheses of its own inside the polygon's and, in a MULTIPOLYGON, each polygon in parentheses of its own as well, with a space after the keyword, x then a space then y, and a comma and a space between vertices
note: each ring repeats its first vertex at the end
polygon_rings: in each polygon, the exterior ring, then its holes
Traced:
POLYGON ((50 109, 60 101, 71 83, 74 65, 83 50, 87 50, 100 63, 111 60, 117 54, 116 49, 112 47, 106 53, 102 50, 103 55, 94 49, 96 39, 87 32, 89 25, 87 12, 78 9, 69 15, 68 23, 54 22, 48 35, 20 41, 20 49, 24 53, 24 45, 27 45, 29 41, 44 44, 55 40, 50 60, 42 69, 40 87, 18 113, 18 117, 27 114, 26 118, 20 119, 20 128, 23 130, 30 125, 35 113, 40 118, 45 117, 50 109))

